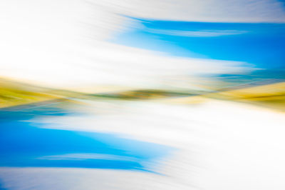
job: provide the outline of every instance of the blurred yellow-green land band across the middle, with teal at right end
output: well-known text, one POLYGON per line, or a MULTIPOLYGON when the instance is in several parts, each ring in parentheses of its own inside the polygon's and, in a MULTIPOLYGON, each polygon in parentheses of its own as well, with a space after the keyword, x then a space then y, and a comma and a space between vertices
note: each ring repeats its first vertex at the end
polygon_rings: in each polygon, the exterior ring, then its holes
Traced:
MULTIPOLYGON (((19 81, 4 79, 1 82, 1 108, 33 104, 41 101, 72 101, 81 99, 118 99, 123 101, 145 101, 165 99, 165 103, 195 103, 197 99, 221 99, 239 101, 257 106, 265 106, 276 111, 284 111, 285 71, 257 70, 250 74, 223 74, 204 77, 204 84, 194 84, 200 89, 131 89, 115 86, 89 87, 86 93, 62 89, 45 88, 19 81), (208 80, 208 81, 207 81, 208 80), (211 86, 207 86, 211 84, 211 86), (202 87, 201 87, 202 86, 202 87), (113 91, 113 89, 118 89, 113 91), (128 89, 128 90, 124 90, 128 89)), ((193 85, 193 84, 192 84, 193 85)), ((73 101, 74 103, 76 101, 73 101)))

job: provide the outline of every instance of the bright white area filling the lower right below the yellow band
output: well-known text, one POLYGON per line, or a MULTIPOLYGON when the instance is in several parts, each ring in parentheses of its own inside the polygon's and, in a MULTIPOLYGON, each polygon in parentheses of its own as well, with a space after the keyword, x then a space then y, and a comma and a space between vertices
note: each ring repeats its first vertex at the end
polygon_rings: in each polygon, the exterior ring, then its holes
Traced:
MULTIPOLYGON (((282 178, 285 117, 279 112, 227 101, 188 106, 98 101, 83 108, 93 114, 48 117, 40 121, 46 123, 43 125, 46 128, 113 133, 177 149, 172 156, 158 161, 159 167, 154 167, 167 177, 151 177, 153 181, 147 179, 147 185, 156 188, 156 180, 161 179, 158 183, 162 187, 158 189, 165 189, 165 183, 172 180, 185 189, 192 186, 211 190, 285 188, 282 178)), ((110 174, 114 172, 118 171, 110 174)), ((122 175, 128 172, 131 171, 123 171, 122 175)), ((141 175, 142 181, 143 176, 152 176, 141 175)), ((121 178, 118 173, 106 180, 113 183, 121 178)), ((88 177, 82 180, 90 183, 88 177)), ((140 176, 135 180, 138 181, 130 183, 141 183, 140 176)), ((119 182, 118 188, 124 189, 125 185, 129 184, 119 182)), ((175 189, 175 186, 167 188, 175 189)))

